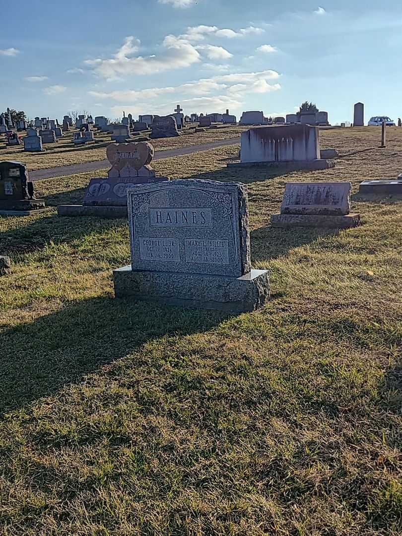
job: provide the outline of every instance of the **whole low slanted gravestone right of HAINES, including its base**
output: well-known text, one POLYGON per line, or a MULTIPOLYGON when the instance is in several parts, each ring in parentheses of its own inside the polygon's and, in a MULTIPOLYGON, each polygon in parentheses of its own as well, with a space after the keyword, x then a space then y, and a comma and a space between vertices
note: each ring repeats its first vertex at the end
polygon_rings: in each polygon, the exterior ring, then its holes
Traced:
POLYGON ((280 214, 271 214, 271 226, 356 227, 360 214, 350 213, 351 188, 350 182, 288 182, 280 214))

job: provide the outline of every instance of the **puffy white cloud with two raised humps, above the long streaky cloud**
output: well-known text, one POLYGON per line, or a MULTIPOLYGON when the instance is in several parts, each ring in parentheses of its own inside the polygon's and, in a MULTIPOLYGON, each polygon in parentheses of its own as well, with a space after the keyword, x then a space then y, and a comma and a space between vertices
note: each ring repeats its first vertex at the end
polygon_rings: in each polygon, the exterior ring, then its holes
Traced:
POLYGON ((87 59, 84 63, 100 77, 114 80, 124 75, 151 75, 180 69, 200 61, 195 47, 174 35, 166 36, 159 54, 132 57, 138 51, 139 43, 133 36, 129 36, 113 58, 87 59))

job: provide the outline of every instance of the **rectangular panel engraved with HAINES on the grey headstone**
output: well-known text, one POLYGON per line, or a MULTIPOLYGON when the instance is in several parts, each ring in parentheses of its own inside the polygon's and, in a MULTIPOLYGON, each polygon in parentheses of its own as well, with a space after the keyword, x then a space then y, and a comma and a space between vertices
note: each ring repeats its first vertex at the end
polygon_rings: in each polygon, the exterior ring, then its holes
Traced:
POLYGON ((149 215, 151 227, 213 227, 212 209, 207 208, 150 208, 149 215))

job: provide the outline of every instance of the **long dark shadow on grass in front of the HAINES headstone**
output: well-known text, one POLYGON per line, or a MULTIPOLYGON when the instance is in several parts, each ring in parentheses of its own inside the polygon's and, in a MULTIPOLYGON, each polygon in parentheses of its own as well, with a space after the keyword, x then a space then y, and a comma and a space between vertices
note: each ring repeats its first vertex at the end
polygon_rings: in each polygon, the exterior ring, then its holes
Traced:
MULTIPOLYGON (((203 332, 228 314, 102 297, 73 303, 1 335, 0 415, 166 335, 203 332)), ((140 363, 139 363, 140 366, 140 363)))

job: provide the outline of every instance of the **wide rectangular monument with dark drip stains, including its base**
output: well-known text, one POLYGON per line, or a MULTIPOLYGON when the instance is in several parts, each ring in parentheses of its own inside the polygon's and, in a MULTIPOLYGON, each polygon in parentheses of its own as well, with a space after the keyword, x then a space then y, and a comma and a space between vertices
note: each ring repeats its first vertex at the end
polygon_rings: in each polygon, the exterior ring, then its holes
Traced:
POLYGON ((241 162, 228 167, 270 166, 326 169, 334 162, 321 159, 316 126, 260 126, 241 133, 241 162))

